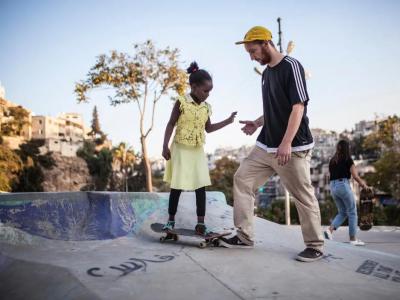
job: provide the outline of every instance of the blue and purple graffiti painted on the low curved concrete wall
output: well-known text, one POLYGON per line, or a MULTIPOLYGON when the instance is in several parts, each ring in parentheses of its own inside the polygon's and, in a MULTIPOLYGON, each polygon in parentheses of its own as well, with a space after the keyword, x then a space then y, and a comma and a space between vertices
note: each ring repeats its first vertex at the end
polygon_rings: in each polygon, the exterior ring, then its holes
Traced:
POLYGON ((2 199, 2 222, 34 236, 64 241, 115 239, 131 233, 137 223, 137 212, 131 205, 136 198, 126 193, 44 193, 31 197, 21 200, 10 195, 2 199))

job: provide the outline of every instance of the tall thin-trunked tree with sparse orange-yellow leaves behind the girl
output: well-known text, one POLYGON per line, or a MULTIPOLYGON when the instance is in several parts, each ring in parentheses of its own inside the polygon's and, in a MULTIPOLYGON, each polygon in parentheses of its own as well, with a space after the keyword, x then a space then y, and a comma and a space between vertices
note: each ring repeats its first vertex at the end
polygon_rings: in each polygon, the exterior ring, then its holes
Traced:
POLYGON ((178 49, 156 49, 151 41, 134 45, 134 55, 112 51, 102 54, 90 69, 86 80, 75 85, 78 102, 88 101, 88 92, 97 87, 111 87, 111 105, 136 103, 139 113, 140 143, 146 172, 146 188, 152 191, 147 137, 153 129, 155 108, 164 95, 183 94, 187 86, 186 72, 178 66, 178 49), (151 121, 146 128, 149 98, 152 98, 151 121), (147 114, 146 114, 147 113, 147 114))

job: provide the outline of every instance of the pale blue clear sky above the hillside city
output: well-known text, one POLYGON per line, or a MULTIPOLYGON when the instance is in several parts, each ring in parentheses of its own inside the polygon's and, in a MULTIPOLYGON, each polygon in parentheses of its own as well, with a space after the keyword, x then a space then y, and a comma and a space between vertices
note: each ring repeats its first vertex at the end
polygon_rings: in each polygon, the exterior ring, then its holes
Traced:
MULTIPOLYGON (((293 40, 291 56, 307 81, 311 128, 341 132, 361 120, 400 113, 400 1, 21 1, 0 0, 0 81, 6 99, 36 115, 78 112, 89 126, 94 105, 113 144, 140 151, 136 105, 110 106, 104 92, 78 104, 76 82, 85 79, 96 57, 111 50, 133 53, 151 39, 156 47, 180 50, 180 65, 196 60, 210 72, 207 100, 212 122, 238 111, 237 121, 207 135, 205 149, 255 143, 238 120, 262 114, 261 82, 241 40, 255 25, 269 28, 277 42, 293 40)), ((149 154, 160 157, 172 101, 156 108, 149 154)))

